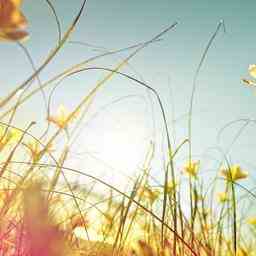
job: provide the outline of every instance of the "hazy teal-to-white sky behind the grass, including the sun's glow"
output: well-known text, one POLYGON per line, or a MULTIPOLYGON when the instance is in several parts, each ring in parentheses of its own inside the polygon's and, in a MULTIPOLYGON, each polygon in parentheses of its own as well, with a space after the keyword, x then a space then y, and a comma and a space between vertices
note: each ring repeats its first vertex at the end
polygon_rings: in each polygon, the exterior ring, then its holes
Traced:
MULTIPOLYGON (((65 31, 82 2, 51 2, 62 31, 65 31)), ((223 160, 220 149, 225 152, 229 148, 244 123, 235 123, 223 130, 218 140, 221 129, 234 120, 255 118, 256 93, 241 83, 241 78, 249 78, 248 66, 256 62, 255 8, 253 0, 88 0, 69 39, 71 42, 40 74, 40 79, 47 81, 65 68, 99 54, 99 49, 119 49, 149 40, 177 22, 163 40, 141 51, 122 71, 143 79, 157 90, 165 107, 170 133, 175 135, 178 145, 187 136, 186 114, 197 66, 218 23, 224 20, 226 30, 219 31, 210 47, 194 98, 193 156, 200 159, 202 175, 208 179, 216 174, 223 160), (172 120, 176 119, 173 125, 172 120)), ((30 33, 24 45, 38 67, 57 44, 56 22, 46 1, 24 0, 22 10, 29 21, 30 33)), ((106 57, 92 66, 113 68, 128 54, 106 57)), ((1 43, 0 56, 0 97, 4 97, 24 81, 32 69, 17 44, 1 43)), ((104 72, 90 71, 63 81, 53 94, 52 110, 59 104, 74 108, 104 75, 104 72)), ((33 86, 36 87, 36 83, 33 86)), ((33 97, 19 111, 15 120, 19 126, 26 126, 27 120, 36 120, 38 131, 44 127, 42 95, 33 97)), ((106 180, 120 185, 123 184, 121 176, 131 177, 142 166, 150 141, 153 141, 159 157, 154 160, 152 174, 161 181, 165 144, 163 120, 155 96, 146 89, 114 77, 98 92, 79 131, 72 147, 71 166, 88 168, 95 175, 104 175, 106 180)), ((241 164, 250 173, 250 181, 246 183, 249 188, 253 187, 256 177, 254 134, 255 126, 250 123, 228 154, 232 163, 241 164)), ((178 170, 187 154, 188 148, 184 147, 177 157, 178 170)))

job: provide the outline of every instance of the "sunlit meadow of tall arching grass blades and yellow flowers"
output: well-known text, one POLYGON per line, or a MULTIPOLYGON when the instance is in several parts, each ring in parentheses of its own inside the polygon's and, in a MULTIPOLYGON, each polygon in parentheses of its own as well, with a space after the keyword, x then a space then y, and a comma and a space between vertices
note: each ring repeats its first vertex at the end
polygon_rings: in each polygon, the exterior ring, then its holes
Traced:
MULTIPOLYGON (((40 65, 35 65, 26 42, 21 41, 28 36, 23 30, 26 20, 20 13, 21 1, 0 1, 2 3, 8 3, 9 9, 0 5, 3 8, 0 9, 1 41, 21 47, 34 72, 8 93, 4 85, 1 87, 1 95, 5 96, 0 100, 0 255, 256 256, 256 215, 240 214, 247 196, 240 198, 237 192, 242 189, 250 199, 256 197, 242 185, 243 180, 250 179, 248 172, 231 163, 223 153, 224 160, 220 159, 219 168, 214 170, 213 182, 205 186, 200 175, 200 159, 193 157, 191 122, 197 77, 216 35, 224 28, 223 21, 209 38, 194 77, 186 127, 188 135, 174 145, 166 116, 169 110, 163 106, 158 92, 144 81, 122 72, 122 68, 129 65, 137 53, 176 29, 177 23, 143 43, 96 53, 42 82, 41 72, 60 51, 65 51, 64 45, 75 30, 86 1, 64 33, 53 4, 47 1, 58 26, 59 40, 40 65), (115 67, 94 66, 95 60, 120 52, 127 57, 115 67), (80 102, 75 102, 73 109, 64 105, 52 109, 52 94, 61 82, 89 70, 96 74, 104 71, 105 77, 80 102), (143 166, 136 177, 132 177, 129 189, 116 187, 104 177, 100 179, 93 172, 69 168, 66 164, 79 124, 86 118, 98 91, 116 76, 145 88, 158 103, 167 144, 160 170, 164 176, 162 183, 152 183, 152 160, 162 157, 156 156, 152 141, 148 142, 143 166), (46 96, 47 90, 52 90, 49 96, 46 96), (44 95, 47 110, 45 130, 40 136, 33 135, 36 123, 26 120, 26 115, 23 119, 27 127, 20 128, 15 123, 19 108, 37 94, 44 95), (56 149, 56 145, 61 147, 56 149), (188 157, 180 170, 175 162, 183 148, 188 151, 188 157), (74 182, 70 176, 82 177, 90 185, 74 182), (189 197, 189 204, 185 206, 181 193, 184 180, 189 197), (95 190, 96 186, 104 192, 95 190)), ((255 65, 249 67, 249 73, 256 78, 255 65)), ((255 85, 253 80, 244 79, 243 83, 255 85)))

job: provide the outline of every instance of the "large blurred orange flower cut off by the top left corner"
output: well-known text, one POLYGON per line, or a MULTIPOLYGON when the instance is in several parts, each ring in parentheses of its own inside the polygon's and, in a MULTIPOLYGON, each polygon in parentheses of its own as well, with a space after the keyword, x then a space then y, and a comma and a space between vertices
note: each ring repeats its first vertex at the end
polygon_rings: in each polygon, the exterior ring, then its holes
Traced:
POLYGON ((0 2, 0 40, 21 41, 28 37, 27 20, 20 11, 21 0, 0 2))

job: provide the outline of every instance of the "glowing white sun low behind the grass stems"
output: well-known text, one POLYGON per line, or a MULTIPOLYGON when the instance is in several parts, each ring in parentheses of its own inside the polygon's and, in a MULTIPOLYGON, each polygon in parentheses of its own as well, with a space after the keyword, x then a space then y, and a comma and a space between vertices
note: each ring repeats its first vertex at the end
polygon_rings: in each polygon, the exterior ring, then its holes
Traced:
MULTIPOLYGON (((109 117, 109 116, 108 116, 109 117)), ((130 178, 140 170, 150 145, 150 129, 145 120, 136 115, 119 119, 113 125, 112 120, 100 119, 89 123, 86 130, 76 141, 80 158, 76 166, 93 170, 111 185, 127 184, 130 178)), ((79 154, 78 154, 79 155, 79 154)))

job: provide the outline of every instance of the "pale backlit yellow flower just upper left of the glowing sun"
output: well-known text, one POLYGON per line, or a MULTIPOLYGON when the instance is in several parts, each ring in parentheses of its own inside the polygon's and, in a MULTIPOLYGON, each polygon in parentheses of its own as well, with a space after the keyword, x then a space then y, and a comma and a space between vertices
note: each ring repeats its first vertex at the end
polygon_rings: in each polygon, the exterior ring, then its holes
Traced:
POLYGON ((55 116, 49 116, 48 121, 54 123, 59 128, 64 129, 74 117, 75 116, 73 115, 71 118, 71 114, 68 112, 66 107, 64 105, 60 105, 57 109, 57 114, 55 116))

